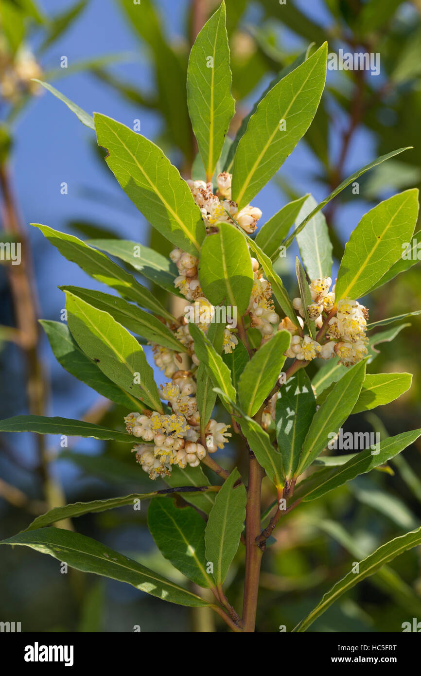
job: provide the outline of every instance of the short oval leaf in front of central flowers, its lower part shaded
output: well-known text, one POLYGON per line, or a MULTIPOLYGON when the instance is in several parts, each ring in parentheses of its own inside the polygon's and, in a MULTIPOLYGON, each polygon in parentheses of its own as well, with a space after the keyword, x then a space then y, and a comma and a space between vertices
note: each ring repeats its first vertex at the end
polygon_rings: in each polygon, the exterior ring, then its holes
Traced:
POLYGON ((218 223, 218 233, 206 237, 200 251, 199 281, 213 305, 237 308, 242 316, 250 301, 253 270, 247 243, 228 223, 218 223))

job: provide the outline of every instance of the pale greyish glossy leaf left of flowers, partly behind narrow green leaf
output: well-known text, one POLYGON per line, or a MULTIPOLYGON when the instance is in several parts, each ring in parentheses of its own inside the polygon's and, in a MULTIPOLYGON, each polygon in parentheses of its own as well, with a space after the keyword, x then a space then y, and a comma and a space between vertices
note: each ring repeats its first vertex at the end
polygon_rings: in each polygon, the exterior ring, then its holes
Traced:
POLYGON ((126 239, 89 239, 87 243, 95 249, 105 251, 110 256, 124 260, 134 270, 141 272, 146 279, 178 295, 174 287, 174 281, 178 277, 176 265, 154 249, 126 239))

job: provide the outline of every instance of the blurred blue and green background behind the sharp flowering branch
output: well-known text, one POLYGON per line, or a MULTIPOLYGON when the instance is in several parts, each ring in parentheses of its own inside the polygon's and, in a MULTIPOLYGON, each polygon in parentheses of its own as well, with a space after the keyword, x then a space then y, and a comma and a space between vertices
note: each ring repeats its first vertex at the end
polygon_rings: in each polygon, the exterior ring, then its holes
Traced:
MULTIPOLYGON (((139 8, 132 0, 86 0, 59 3, 59 14, 57 4, 0 0, 1 235, 3 241, 21 241, 25 251, 24 265, 0 266, 0 416, 31 410, 121 428, 126 411, 64 372, 36 330, 36 314, 60 318, 57 284, 76 284, 84 275, 45 248, 27 223, 38 219, 86 239, 134 239, 164 253, 171 247, 149 231, 114 185, 88 132, 61 103, 47 94, 40 97, 28 75, 49 82, 66 76, 66 83, 56 86, 85 110, 101 110, 129 126, 141 120, 141 132, 161 145, 188 178, 196 149, 185 96, 187 59, 217 2, 141 0, 139 8), (61 68, 63 55, 68 55, 68 68, 61 68), (15 78, 13 96, 10 77, 15 78), (66 197, 59 195, 62 180, 69 181, 66 197)), ((362 214, 380 199, 421 183, 420 0, 226 0, 226 5, 237 101, 232 133, 270 80, 309 44, 327 39, 329 51, 380 55, 377 76, 328 71, 322 103, 304 141, 253 201, 265 222, 290 199, 311 191, 320 201, 377 155, 413 145, 399 159, 365 174, 358 195, 349 187, 326 209, 335 273, 362 214)), ((295 253, 291 247, 278 263, 293 295, 295 253)), ((365 299, 370 320, 419 310, 419 274, 414 266, 365 299)), ((393 342, 380 345, 370 371, 412 372, 412 388, 375 414, 351 416, 347 429, 387 435, 420 426, 419 344, 420 320, 411 318, 393 342)), ((162 382, 162 374, 157 379, 162 382)), ((218 412, 218 420, 223 417, 218 412)), ((264 558, 257 631, 279 631, 282 625, 291 631, 352 561, 419 525, 420 451, 418 441, 387 468, 283 520, 264 558)), ((246 470, 244 450, 234 445, 218 461, 246 470)), ((45 447, 30 435, 3 436, 0 476, 1 537, 26 527, 47 504, 108 498, 150 485, 126 445, 70 439, 68 448, 61 448, 59 439, 47 437, 45 447)), ((271 501, 270 483, 264 483, 264 504, 271 501)), ((180 581, 180 573, 153 545, 146 515, 145 506, 141 512, 120 508, 61 525, 145 564, 153 561, 155 570, 180 581)), ((60 574, 55 560, 25 549, 4 548, 0 560, 0 620, 21 621, 22 631, 133 631, 134 625, 147 632, 225 631, 205 609, 165 604, 78 571, 60 574)), ((236 606, 242 554, 227 587, 236 606)), ((421 617, 418 550, 398 558, 393 571, 383 569, 357 585, 310 631, 401 631, 401 623, 412 617, 421 617)))

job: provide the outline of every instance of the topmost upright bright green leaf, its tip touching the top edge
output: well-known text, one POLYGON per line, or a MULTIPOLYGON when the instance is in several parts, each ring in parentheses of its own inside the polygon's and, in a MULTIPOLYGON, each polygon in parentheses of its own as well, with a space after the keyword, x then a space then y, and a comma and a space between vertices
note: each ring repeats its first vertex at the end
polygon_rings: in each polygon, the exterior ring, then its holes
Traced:
POLYGON ((203 26, 191 48, 187 70, 187 104, 199 152, 212 180, 234 115, 230 48, 225 28, 225 3, 203 26))

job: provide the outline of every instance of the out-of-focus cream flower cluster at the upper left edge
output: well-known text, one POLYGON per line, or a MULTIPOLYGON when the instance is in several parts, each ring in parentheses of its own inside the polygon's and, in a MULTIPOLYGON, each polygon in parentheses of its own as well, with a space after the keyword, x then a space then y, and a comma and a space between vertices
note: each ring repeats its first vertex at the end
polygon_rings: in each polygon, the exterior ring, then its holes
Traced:
POLYGON ((12 61, 6 53, 0 53, 0 93, 3 99, 16 103, 24 94, 39 92, 39 84, 32 78, 41 78, 42 71, 34 55, 20 49, 12 61))

